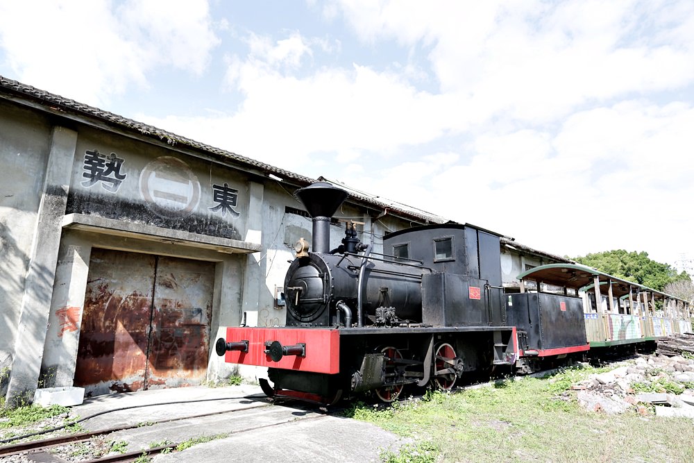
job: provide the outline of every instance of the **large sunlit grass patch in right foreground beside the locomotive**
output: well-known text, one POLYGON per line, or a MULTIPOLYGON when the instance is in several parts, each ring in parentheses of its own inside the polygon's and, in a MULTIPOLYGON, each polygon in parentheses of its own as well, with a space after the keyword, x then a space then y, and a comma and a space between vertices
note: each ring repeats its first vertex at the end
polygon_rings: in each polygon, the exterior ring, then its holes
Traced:
POLYGON ((607 415, 579 407, 576 393, 566 389, 601 371, 606 370, 568 369, 457 394, 432 392, 384 409, 355 404, 346 414, 423 443, 384 453, 387 462, 694 461, 689 419, 607 415))

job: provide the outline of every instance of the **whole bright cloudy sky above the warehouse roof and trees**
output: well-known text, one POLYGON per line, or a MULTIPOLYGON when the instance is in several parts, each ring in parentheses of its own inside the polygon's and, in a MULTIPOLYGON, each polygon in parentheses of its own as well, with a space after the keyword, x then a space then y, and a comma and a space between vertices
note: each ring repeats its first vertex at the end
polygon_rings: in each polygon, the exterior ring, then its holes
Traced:
POLYGON ((694 258, 691 0, 0 0, 0 74, 550 253, 694 258))

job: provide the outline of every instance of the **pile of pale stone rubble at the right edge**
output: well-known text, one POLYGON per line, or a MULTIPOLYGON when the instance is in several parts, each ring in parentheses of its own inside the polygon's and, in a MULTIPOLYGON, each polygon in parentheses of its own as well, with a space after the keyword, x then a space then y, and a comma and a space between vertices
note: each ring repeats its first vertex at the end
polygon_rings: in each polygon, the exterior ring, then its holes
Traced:
POLYGON ((571 386, 587 410, 607 414, 634 410, 642 416, 694 419, 694 359, 639 355, 626 365, 571 386), (648 391, 648 392, 644 392, 648 391))

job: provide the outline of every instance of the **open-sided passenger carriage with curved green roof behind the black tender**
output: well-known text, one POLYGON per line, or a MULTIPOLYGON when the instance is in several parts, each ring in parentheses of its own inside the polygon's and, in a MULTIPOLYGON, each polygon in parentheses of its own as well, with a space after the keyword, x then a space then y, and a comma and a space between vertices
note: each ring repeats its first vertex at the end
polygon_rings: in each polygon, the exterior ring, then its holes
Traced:
MULTIPOLYGON (((515 298, 528 298, 523 294, 527 294, 529 289, 532 294, 542 294, 541 301, 545 303, 540 306, 545 310, 539 313, 545 317, 539 318, 536 324, 544 330, 552 329, 552 332, 566 332, 557 324, 566 323, 566 317, 573 317, 573 323, 577 323, 577 308, 581 308, 582 314, 578 315, 582 316, 586 345, 590 348, 637 347, 657 342, 661 337, 692 331, 688 301, 590 267, 548 264, 521 273, 518 279, 521 280, 521 294, 509 294, 509 303, 514 303, 515 298), (550 301, 554 302, 555 308, 548 307, 550 301)), ((535 329, 532 319, 530 323, 518 320, 519 340, 523 340, 529 329, 535 329)), ((582 346, 582 337, 566 339, 567 336, 558 341, 558 344, 564 342, 565 345, 552 347, 582 346)), ((535 342, 541 342, 541 339, 535 342)), ((537 350, 536 345, 532 347, 532 351, 537 350)))

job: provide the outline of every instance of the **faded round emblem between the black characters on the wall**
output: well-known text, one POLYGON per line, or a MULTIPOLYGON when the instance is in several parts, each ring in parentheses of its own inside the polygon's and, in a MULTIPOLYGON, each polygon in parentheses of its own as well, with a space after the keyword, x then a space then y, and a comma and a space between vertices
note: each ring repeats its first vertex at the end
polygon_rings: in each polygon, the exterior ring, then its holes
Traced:
POLYGON ((200 182, 190 167, 171 156, 156 158, 139 175, 139 192, 161 217, 189 215, 200 203, 200 182))

